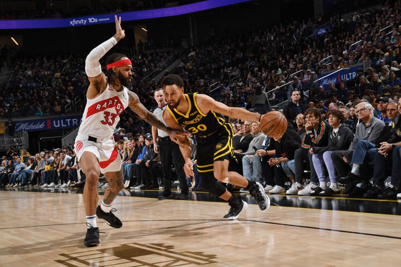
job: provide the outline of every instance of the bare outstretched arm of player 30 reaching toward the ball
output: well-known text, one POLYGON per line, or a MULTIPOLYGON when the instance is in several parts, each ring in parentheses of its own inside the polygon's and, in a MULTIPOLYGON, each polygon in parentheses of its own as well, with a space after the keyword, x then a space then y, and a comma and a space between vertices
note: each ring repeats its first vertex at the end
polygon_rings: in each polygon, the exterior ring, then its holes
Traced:
POLYGON ((229 107, 223 103, 217 102, 207 95, 196 94, 196 102, 199 109, 204 114, 207 114, 210 110, 213 110, 234 119, 241 119, 244 121, 260 121, 260 114, 249 112, 248 110, 242 108, 229 107))

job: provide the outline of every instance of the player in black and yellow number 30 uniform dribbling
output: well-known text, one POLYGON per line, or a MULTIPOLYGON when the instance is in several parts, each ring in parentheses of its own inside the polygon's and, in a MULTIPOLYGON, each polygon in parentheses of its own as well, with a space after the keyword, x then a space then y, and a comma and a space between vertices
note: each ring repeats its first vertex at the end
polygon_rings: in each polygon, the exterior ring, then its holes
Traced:
MULTIPOLYGON (((268 209, 270 199, 262 185, 259 182, 248 181, 241 174, 229 170, 230 161, 235 160, 232 141, 234 132, 231 124, 226 123, 221 114, 250 121, 260 121, 261 115, 246 109, 228 107, 207 95, 184 94, 183 81, 175 74, 166 76, 161 84, 168 103, 163 113, 164 121, 171 128, 183 128, 196 137, 197 170, 202 176, 205 189, 228 201, 231 206, 223 219, 237 219, 248 204, 230 193, 217 180, 246 188, 261 210, 268 209)), ((194 176, 188 138, 177 139, 185 160, 184 171, 186 175, 194 176)))

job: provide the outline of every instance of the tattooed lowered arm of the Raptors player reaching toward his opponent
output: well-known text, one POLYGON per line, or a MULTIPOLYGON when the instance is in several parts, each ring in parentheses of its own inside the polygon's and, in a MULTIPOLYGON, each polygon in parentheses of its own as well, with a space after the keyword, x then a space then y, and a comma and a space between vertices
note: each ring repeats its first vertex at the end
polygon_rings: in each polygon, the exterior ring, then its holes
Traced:
POLYGON ((186 136, 186 134, 182 130, 177 131, 175 129, 171 129, 168 126, 165 126, 164 123, 159 121, 153 113, 148 111, 142 105, 142 103, 139 101, 138 96, 129 90, 128 90, 128 99, 129 99, 128 106, 130 109, 132 109, 133 112, 138 114, 139 117, 150 123, 152 126, 166 132, 168 135, 170 135, 172 140, 175 140, 177 136, 186 136))

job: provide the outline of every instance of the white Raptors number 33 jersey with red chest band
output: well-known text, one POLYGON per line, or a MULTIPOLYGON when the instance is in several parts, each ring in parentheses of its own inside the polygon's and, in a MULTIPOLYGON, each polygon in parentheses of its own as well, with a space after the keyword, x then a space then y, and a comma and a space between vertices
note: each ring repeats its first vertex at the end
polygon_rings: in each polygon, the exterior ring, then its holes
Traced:
POLYGON ((123 86, 123 90, 117 92, 107 84, 99 96, 86 100, 78 135, 110 138, 120 121, 119 115, 128 107, 128 89, 123 86))

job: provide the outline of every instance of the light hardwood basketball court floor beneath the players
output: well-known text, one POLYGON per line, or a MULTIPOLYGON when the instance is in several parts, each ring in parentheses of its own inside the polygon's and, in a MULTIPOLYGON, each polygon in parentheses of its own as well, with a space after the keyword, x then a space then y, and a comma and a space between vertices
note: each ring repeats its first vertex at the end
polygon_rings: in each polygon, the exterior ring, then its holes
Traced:
POLYGON ((100 231, 107 233, 101 233, 99 246, 85 247, 82 190, 2 190, 0 266, 400 264, 397 201, 279 195, 271 197, 268 211, 250 204, 240 220, 223 221, 229 206, 199 201, 216 200, 209 194, 192 193, 197 201, 160 201, 157 195, 121 192, 113 206, 123 227, 98 219, 100 231))

